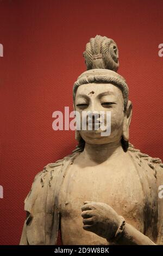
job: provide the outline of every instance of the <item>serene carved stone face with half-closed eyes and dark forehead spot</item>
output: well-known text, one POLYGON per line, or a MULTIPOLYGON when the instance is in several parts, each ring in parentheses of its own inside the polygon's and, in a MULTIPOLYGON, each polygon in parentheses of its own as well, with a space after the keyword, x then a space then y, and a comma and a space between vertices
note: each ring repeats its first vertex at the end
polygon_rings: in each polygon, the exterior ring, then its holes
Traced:
POLYGON ((105 124, 106 112, 111 112, 111 134, 101 136, 101 130, 80 130, 80 136, 89 144, 106 144, 121 140, 125 126, 123 95, 121 89, 113 84, 89 83, 79 86, 74 102, 74 109, 80 113, 83 111, 104 111, 105 124))

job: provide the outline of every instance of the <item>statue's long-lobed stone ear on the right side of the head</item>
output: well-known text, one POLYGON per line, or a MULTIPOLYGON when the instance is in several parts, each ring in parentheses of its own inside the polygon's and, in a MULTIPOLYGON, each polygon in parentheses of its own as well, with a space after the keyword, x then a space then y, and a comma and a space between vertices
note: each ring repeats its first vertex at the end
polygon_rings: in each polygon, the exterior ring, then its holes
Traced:
POLYGON ((128 100, 125 115, 124 115, 123 133, 122 133, 124 141, 127 141, 127 142, 129 141, 129 125, 131 121, 132 108, 133 108, 132 102, 128 100))

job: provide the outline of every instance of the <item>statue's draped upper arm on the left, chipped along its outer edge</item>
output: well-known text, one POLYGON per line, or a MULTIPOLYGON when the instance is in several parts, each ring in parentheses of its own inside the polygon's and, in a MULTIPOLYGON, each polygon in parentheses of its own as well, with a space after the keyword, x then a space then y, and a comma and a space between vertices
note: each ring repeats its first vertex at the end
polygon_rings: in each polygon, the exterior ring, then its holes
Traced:
POLYGON ((48 164, 35 176, 32 188, 24 202, 27 217, 24 221, 20 245, 54 245, 57 243, 59 214, 54 210, 54 198, 61 167, 60 162, 48 164), (52 227, 53 239, 51 241, 52 227))

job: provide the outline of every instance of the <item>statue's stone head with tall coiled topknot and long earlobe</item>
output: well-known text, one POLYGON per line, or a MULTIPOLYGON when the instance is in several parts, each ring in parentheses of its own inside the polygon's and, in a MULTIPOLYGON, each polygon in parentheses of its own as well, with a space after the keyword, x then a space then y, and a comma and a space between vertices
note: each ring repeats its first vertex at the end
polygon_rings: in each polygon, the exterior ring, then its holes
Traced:
POLYGON ((76 139, 84 147, 89 144, 106 144, 121 141, 126 151, 129 142, 129 125, 132 105, 128 100, 126 80, 119 75, 118 48, 114 40, 96 35, 86 44, 83 53, 87 71, 73 86, 73 107, 82 111, 111 112, 111 133, 101 136, 100 130, 76 130, 76 139))

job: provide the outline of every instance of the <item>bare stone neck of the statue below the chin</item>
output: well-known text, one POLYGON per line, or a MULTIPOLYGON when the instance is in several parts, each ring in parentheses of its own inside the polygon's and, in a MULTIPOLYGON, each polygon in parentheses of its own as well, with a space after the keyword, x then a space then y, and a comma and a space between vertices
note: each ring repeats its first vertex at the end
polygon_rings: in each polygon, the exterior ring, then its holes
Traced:
POLYGON ((102 145, 85 143, 83 157, 85 160, 102 163, 112 157, 117 157, 122 153, 123 149, 121 142, 112 142, 102 145))

